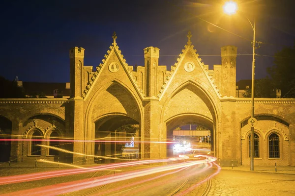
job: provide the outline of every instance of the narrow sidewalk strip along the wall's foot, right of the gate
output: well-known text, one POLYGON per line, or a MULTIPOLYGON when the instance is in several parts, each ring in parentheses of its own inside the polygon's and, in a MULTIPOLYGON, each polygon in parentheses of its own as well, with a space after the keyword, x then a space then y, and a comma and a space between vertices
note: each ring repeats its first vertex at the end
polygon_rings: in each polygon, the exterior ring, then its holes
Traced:
POLYGON ((254 170, 250 171, 250 166, 236 166, 236 167, 221 167, 221 170, 229 171, 243 171, 243 172, 264 172, 264 173, 280 173, 280 174, 295 174, 295 167, 292 166, 255 166, 254 170))

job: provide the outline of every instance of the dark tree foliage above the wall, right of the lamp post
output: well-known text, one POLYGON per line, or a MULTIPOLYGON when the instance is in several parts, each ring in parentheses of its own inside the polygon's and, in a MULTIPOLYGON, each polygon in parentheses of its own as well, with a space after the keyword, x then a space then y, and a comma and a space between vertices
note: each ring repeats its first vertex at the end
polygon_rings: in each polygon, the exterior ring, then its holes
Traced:
POLYGON ((267 69, 274 86, 281 89, 282 98, 295 98, 295 46, 277 52, 274 64, 267 69))

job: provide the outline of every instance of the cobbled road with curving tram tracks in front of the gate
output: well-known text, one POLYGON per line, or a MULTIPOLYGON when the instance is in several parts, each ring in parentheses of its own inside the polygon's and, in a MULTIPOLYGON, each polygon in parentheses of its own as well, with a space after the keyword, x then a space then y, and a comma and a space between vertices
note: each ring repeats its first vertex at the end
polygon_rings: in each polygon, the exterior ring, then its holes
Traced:
MULTIPOLYGON (((59 193, 61 196, 295 195, 295 174, 221 170, 218 174, 208 178, 208 176, 218 172, 217 166, 213 165, 212 168, 206 171, 204 169, 206 165, 200 164, 191 167, 174 168, 173 170, 167 171, 164 171, 162 168, 160 170, 161 172, 153 172, 159 167, 165 168, 166 166, 138 165, 117 168, 116 170, 91 171, 31 181, 28 180, 28 177, 18 183, 0 184, 0 195, 34 196, 40 195, 39 193, 44 189, 53 190, 52 192, 48 192, 48 195, 57 195, 56 193, 59 193), (139 175, 135 172, 145 172, 145 175, 139 175), (100 179, 103 179, 103 182, 111 179, 113 182, 96 184, 100 179), (202 181, 203 183, 200 183, 202 181), (91 187, 92 185, 93 187, 91 187), (57 191, 57 187, 66 187, 63 194, 57 191), (74 191, 75 189, 77 191, 74 191)), ((0 168, 0 175, 11 176, 49 170, 54 171, 57 169, 64 170, 65 168, 0 168)), ((42 174, 41 177, 44 177, 44 175, 42 174)), ((21 177, 17 177, 17 179, 21 180, 21 177)), ((45 196, 46 194, 41 195, 45 196)))

